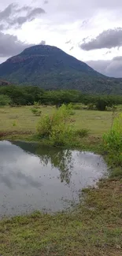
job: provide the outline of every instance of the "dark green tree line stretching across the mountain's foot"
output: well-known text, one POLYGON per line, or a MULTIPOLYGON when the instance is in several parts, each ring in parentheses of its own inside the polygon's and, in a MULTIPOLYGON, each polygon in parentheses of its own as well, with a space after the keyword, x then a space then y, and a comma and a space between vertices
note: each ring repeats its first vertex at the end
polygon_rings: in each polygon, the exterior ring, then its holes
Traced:
POLYGON ((68 103, 82 103, 85 106, 94 106, 98 110, 105 110, 122 104, 122 95, 85 95, 81 91, 58 90, 45 91, 40 87, 32 86, 4 86, 0 87, 0 105, 31 106, 35 102, 43 105, 61 106, 68 103))

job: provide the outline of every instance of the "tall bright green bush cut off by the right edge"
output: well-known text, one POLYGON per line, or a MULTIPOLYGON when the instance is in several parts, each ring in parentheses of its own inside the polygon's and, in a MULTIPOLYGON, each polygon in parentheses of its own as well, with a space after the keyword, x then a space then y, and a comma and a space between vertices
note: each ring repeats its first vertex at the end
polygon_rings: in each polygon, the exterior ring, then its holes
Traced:
POLYGON ((115 165, 122 165, 122 113, 114 119, 111 130, 103 135, 103 143, 115 165))

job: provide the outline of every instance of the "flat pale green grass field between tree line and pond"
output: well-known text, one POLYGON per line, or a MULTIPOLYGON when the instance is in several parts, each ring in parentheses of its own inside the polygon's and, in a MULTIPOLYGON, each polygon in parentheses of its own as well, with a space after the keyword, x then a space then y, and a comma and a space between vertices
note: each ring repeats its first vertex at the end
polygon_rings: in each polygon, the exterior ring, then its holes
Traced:
MULTIPOLYGON (((31 113, 30 106, 22 107, 4 107, 0 108, 0 132, 35 132, 37 121, 36 117, 31 113)), ((55 107, 41 107, 42 115, 52 113, 55 107)), ((107 132, 112 124, 112 113, 109 111, 94 110, 75 110, 76 114, 72 116, 74 128, 87 128, 91 135, 101 136, 107 132)))

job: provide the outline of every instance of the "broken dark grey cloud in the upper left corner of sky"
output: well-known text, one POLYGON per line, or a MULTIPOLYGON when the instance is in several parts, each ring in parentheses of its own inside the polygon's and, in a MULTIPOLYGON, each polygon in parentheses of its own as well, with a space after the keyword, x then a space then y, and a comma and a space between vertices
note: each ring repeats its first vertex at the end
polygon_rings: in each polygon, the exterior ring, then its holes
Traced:
POLYGON ((1 30, 12 27, 18 28, 28 21, 35 20, 43 13, 46 12, 40 7, 22 6, 20 8, 18 4, 11 3, 0 12, 1 30))

